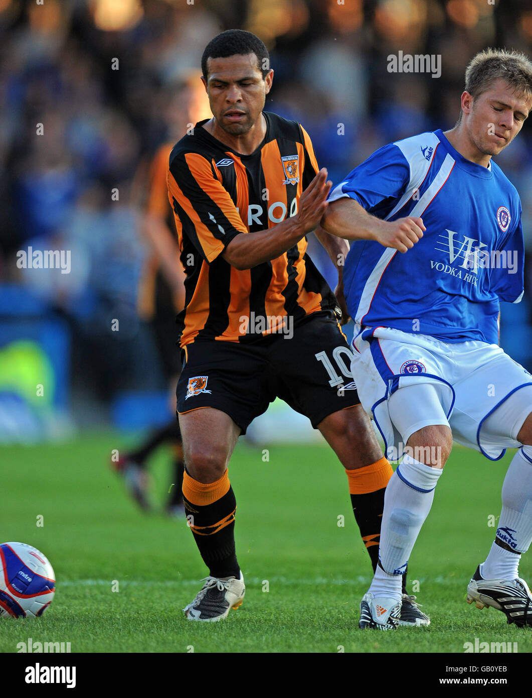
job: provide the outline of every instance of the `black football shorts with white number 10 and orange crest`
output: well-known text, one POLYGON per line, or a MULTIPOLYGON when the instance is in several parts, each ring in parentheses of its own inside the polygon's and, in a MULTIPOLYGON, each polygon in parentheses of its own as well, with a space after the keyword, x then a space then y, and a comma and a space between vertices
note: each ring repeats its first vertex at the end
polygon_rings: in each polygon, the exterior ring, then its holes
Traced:
POLYGON ((225 412, 245 433, 276 397, 310 419, 322 419, 360 400, 351 357, 333 313, 308 315, 293 336, 271 334, 251 344, 199 340, 181 352, 177 411, 212 407, 225 412))

